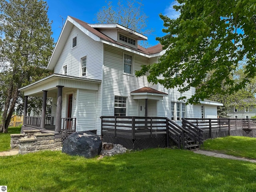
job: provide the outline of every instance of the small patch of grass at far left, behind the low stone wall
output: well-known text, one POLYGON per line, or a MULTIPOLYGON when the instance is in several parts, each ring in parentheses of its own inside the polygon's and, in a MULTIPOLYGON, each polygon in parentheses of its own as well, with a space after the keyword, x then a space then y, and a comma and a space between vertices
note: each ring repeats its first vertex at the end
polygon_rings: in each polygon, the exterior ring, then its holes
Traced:
POLYGON ((10 150, 10 134, 20 133, 21 127, 9 127, 8 133, 0 133, 0 152, 10 150))

